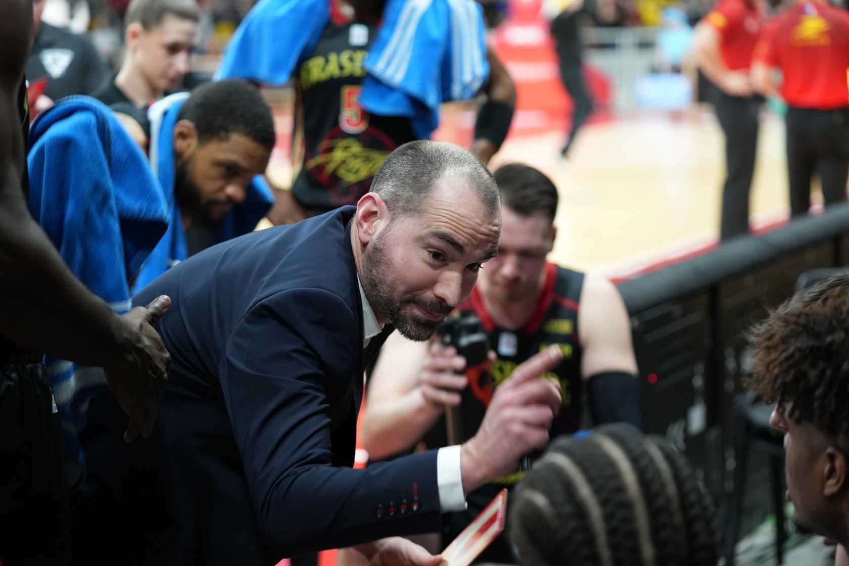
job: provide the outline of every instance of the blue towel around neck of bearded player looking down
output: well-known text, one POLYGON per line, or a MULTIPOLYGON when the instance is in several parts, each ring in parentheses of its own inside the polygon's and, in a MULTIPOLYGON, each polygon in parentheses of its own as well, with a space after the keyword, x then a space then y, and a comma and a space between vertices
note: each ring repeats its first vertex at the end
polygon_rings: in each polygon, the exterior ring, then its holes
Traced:
MULTIPOLYGON (((179 261, 188 257, 186 234, 183 231, 183 217, 174 195, 174 180, 177 164, 174 160, 174 126, 180 108, 188 98, 188 92, 179 92, 161 99, 149 109, 150 118, 150 166, 160 182, 165 194, 171 224, 160 243, 151 252, 147 261, 138 274, 132 288, 133 294, 144 289, 156 277, 166 272, 179 261)), ((245 201, 233 207, 224 217, 222 225, 216 234, 216 241, 223 242, 230 238, 249 233, 265 216, 274 204, 274 196, 268 188, 265 179, 257 175, 247 188, 245 201)))

